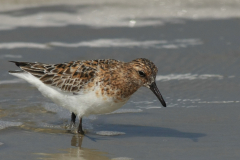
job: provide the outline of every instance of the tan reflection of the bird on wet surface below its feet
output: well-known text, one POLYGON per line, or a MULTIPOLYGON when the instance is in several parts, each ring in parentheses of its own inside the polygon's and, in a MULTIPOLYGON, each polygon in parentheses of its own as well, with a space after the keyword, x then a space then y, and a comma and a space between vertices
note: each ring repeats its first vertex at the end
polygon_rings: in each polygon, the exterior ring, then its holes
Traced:
POLYGON ((109 160, 106 156, 106 152, 100 152, 94 149, 82 148, 84 136, 79 134, 74 134, 71 139, 71 148, 62 149, 61 152, 63 153, 53 153, 53 154, 46 154, 46 153, 39 153, 42 157, 40 159, 43 160, 109 160))

